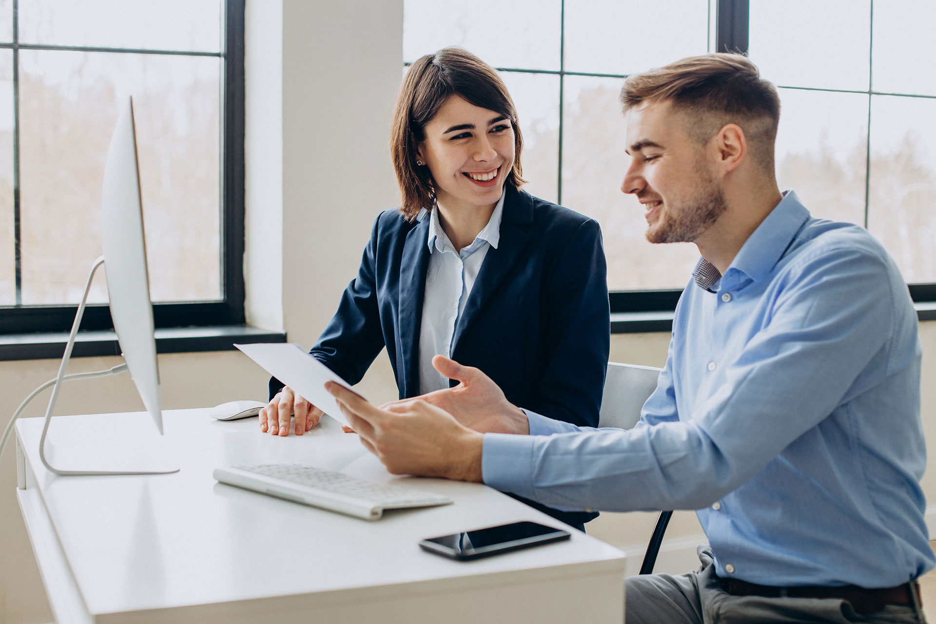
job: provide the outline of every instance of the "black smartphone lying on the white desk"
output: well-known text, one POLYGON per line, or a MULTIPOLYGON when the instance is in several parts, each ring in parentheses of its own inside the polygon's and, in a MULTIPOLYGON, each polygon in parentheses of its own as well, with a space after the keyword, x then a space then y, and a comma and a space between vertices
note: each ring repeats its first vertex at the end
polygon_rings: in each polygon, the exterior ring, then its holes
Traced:
POLYGON ((421 540, 419 545, 436 555, 460 561, 490 557, 520 548, 569 539, 567 530, 535 522, 512 522, 487 529, 468 530, 421 540))

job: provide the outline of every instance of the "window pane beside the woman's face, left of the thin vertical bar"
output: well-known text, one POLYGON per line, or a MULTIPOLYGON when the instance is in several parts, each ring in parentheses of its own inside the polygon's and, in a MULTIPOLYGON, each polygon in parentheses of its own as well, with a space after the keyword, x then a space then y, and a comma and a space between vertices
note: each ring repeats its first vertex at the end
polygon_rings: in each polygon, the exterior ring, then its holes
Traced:
POLYGON ((523 190, 548 201, 558 199, 559 77, 501 72, 517 106, 523 133, 523 190))

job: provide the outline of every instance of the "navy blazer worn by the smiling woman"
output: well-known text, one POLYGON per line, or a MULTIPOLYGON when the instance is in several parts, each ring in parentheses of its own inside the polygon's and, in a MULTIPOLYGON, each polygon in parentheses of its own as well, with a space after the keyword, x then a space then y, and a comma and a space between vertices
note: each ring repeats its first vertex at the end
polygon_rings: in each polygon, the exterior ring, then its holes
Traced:
MULTIPOLYGON (((515 405, 597 427, 610 342, 601 229, 574 210, 505 192, 500 242, 465 302, 451 356, 483 370, 515 405)), ((386 346, 400 398, 419 394, 429 222, 407 222, 399 210, 374 221, 358 276, 310 352, 349 384, 386 346)), ((281 387, 271 380, 271 398, 281 387)))

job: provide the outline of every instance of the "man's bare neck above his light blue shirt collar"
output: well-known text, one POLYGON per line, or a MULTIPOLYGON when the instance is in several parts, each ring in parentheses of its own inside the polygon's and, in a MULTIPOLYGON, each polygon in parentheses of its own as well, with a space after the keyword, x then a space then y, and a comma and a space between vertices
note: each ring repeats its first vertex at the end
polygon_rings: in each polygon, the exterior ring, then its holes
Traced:
POLYGON ((695 239, 699 254, 723 275, 754 230, 764 223, 783 198, 776 184, 760 192, 734 195, 725 197, 727 208, 702 236, 695 239))

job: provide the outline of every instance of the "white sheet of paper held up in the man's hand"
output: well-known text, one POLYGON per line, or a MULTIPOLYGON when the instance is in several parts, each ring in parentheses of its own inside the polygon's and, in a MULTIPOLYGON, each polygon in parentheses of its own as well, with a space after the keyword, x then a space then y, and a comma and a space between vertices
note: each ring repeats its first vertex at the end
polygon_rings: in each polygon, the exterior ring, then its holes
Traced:
POLYGON ((347 418, 338 409, 338 401, 325 389, 325 384, 335 382, 358 396, 360 393, 329 367, 306 353, 300 345, 295 342, 255 342, 234 346, 319 410, 343 425, 348 424, 347 418))

